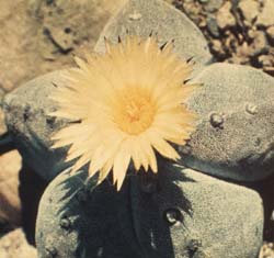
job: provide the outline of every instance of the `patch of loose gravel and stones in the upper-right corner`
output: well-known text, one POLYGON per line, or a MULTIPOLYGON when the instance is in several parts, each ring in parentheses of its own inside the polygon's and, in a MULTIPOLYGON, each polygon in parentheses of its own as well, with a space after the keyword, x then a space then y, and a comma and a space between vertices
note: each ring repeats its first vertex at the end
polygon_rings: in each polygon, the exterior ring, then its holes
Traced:
POLYGON ((218 61, 274 76, 273 0, 173 0, 202 30, 218 61))

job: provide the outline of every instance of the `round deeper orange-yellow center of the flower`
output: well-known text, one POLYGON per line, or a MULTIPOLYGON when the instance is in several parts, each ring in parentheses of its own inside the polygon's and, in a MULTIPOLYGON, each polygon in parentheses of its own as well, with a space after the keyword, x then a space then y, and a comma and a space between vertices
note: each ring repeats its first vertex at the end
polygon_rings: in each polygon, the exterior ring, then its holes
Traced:
POLYGON ((125 133, 142 133, 151 125, 155 114, 156 104, 147 90, 127 87, 118 92, 114 122, 125 133))

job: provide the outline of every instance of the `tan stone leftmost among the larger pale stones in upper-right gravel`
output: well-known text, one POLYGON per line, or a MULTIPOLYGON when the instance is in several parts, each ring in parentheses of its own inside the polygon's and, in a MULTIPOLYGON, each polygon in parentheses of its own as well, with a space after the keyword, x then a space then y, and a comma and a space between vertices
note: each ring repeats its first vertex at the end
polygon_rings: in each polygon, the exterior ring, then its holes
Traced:
POLYGON ((235 16, 230 12, 231 8, 231 2, 226 2, 217 12, 217 24, 220 30, 226 30, 236 25, 235 16))

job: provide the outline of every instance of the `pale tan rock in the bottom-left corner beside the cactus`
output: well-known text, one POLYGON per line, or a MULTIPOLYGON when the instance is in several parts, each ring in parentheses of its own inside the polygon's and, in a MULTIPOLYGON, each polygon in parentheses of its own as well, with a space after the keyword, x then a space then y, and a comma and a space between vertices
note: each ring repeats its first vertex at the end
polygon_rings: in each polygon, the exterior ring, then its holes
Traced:
POLYGON ((22 229, 10 232, 0 238, 1 258, 37 258, 37 251, 25 240, 22 229))

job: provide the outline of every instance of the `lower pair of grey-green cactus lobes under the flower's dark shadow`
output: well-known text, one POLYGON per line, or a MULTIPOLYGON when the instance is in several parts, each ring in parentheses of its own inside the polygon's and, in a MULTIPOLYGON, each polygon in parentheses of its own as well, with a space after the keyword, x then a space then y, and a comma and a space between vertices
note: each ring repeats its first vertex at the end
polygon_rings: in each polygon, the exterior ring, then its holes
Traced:
POLYGON ((191 169, 161 168, 150 182, 148 173, 128 177, 121 192, 107 181, 83 188, 84 171, 59 175, 39 205, 39 257, 256 257, 263 231, 256 192, 191 169))

